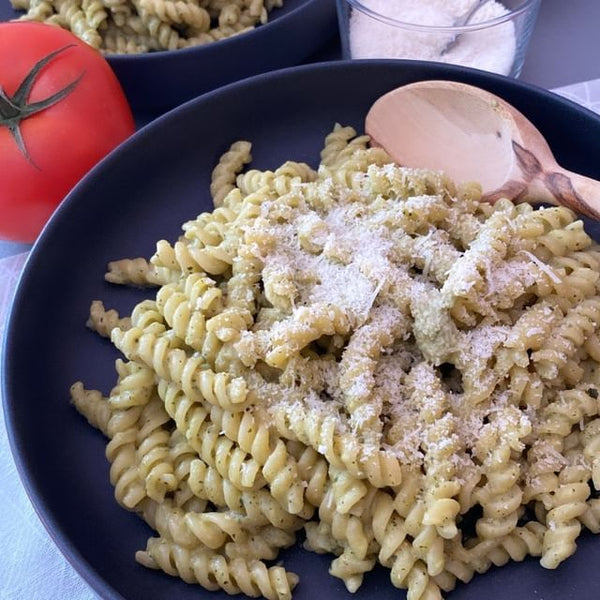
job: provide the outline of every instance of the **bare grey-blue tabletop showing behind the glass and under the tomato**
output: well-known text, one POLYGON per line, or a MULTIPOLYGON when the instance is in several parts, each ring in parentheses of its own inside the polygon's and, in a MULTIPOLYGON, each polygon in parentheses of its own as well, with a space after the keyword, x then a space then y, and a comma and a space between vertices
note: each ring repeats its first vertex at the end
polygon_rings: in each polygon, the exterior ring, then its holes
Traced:
MULTIPOLYGON (((321 60, 339 57, 332 42, 321 60)), ((521 79, 547 89, 600 78, 600 0, 542 0, 521 79)), ((26 244, 0 240, 0 259, 26 244)))

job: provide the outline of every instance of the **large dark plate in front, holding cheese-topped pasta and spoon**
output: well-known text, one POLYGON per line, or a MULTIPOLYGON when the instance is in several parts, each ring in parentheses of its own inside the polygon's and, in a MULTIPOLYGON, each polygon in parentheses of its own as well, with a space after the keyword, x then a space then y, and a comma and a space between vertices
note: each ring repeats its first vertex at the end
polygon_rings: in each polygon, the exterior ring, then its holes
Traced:
MULTIPOLYGON (((96 167, 50 220, 20 280, 8 323, 3 397, 19 473, 57 545, 103 598, 219 598, 134 561, 150 530, 119 508, 108 483, 105 441, 69 405, 82 379, 107 393, 117 352, 85 326, 99 298, 128 310, 145 294, 103 281, 109 260, 149 256, 160 238, 210 206, 210 172, 228 145, 253 142, 257 168, 287 159, 315 165, 339 121, 362 129, 381 94, 422 79, 479 85, 513 103, 547 136, 565 167, 600 177, 600 117, 537 88, 479 71, 418 62, 354 61, 268 73, 211 92, 158 119, 96 167)), ((596 231, 597 233, 597 231, 596 231)), ((297 600, 351 598, 327 574, 329 557, 293 549, 297 600)), ((557 571, 536 560, 477 576, 452 600, 592 600, 600 590, 600 538, 583 535, 557 571)), ((384 570, 354 598, 404 597, 384 570)))

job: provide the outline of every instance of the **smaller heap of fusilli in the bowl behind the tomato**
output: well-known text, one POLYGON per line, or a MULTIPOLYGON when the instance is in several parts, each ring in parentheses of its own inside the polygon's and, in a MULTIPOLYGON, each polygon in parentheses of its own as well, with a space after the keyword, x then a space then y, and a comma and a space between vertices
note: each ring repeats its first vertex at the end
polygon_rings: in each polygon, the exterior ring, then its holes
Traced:
POLYGON ((68 29, 107 54, 200 46, 268 21, 283 0, 11 0, 21 19, 68 29))

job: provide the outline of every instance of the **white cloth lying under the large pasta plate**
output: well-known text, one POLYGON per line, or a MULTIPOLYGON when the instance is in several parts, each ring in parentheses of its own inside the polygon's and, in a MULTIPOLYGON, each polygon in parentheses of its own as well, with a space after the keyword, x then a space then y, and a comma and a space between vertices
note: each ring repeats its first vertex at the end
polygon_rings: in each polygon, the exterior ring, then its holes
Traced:
MULTIPOLYGON (((600 79, 554 90, 600 114, 600 79)), ((0 339, 27 254, 0 260, 0 339)), ((1 350, 0 350, 1 352, 1 350)), ((1 357, 0 357, 1 358, 1 357)), ((93 600, 96 594, 63 558, 19 481, 0 411, 0 600, 93 600)))

